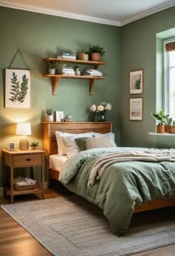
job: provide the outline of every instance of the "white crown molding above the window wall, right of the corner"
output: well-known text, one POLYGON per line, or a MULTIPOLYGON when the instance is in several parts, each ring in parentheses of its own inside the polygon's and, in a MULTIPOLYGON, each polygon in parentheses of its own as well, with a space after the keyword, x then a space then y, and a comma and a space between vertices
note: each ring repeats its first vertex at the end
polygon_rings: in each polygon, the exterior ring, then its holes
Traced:
POLYGON ((128 19, 123 19, 121 22, 119 22, 119 26, 122 27, 125 24, 131 23, 131 22, 135 22, 138 19, 145 18, 145 17, 147 17, 147 16, 149 16, 149 15, 151 15, 153 13, 158 13, 161 10, 168 9, 170 7, 173 7, 173 6, 175 6, 175 0, 167 1, 165 4, 159 4, 158 6, 153 7, 151 9, 149 9, 149 10, 145 10, 142 13, 138 13, 136 15, 133 15, 133 16, 131 16, 128 19))

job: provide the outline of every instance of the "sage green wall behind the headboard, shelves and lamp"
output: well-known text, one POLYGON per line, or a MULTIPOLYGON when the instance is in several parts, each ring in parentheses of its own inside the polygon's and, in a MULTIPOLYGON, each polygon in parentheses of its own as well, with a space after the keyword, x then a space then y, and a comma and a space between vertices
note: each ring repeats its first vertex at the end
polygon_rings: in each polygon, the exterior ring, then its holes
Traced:
MULTIPOLYGON (((92 121, 89 108, 95 103, 108 101, 113 105, 107 120, 113 121, 119 143, 119 106, 120 106, 120 36, 119 27, 92 22, 82 22, 0 7, 0 140, 1 148, 9 142, 18 147, 19 137, 15 135, 17 119, 30 122, 32 136, 30 142, 37 140, 42 148, 42 120, 44 108, 64 111, 73 121, 92 121), (62 79, 52 95, 51 79, 42 76, 47 65, 42 59, 56 57, 62 51, 76 52, 84 47, 98 43, 105 48, 106 56, 99 70, 107 79, 94 83, 93 96, 89 95, 88 80, 62 79), (16 50, 22 50, 24 60, 31 71, 31 108, 4 108, 4 72, 13 59, 16 50)), ((12 68, 24 68, 17 56, 12 68)), ((79 68, 85 66, 79 65, 79 68)), ((88 67, 92 68, 92 66, 88 67)), ((0 187, 1 187, 0 167, 0 187)))

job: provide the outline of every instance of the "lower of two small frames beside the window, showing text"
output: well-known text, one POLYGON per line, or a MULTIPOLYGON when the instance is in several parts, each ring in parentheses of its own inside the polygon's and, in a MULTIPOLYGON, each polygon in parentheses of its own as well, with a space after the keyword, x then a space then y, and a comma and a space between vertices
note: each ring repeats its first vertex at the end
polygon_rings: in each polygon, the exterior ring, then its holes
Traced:
POLYGON ((131 98, 130 99, 130 120, 131 121, 142 121, 142 98, 131 98))

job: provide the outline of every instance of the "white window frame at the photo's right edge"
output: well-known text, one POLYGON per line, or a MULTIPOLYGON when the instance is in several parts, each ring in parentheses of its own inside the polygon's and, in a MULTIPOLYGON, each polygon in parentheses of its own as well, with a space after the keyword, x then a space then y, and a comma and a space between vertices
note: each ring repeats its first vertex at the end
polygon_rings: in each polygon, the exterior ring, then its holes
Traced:
POLYGON ((169 88, 169 81, 170 81, 170 68, 169 68, 169 54, 165 49, 165 45, 169 42, 175 42, 175 37, 171 39, 166 39, 163 42, 163 49, 164 49, 164 61, 163 61, 163 107, 166 114, 170 113, 170 88, 169 88))

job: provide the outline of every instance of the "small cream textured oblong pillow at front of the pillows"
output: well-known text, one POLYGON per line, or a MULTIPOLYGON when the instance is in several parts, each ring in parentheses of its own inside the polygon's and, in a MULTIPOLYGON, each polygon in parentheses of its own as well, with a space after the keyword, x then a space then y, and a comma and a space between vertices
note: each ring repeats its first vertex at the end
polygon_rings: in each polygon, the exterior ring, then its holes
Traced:
POLYGON ((105 135, 102 138, 101 137, 93 137, 93 138, 88 138, 86 140, 86 148, 110 148, 112 147, 113 144, 110 140, 109 135, 105 135))

